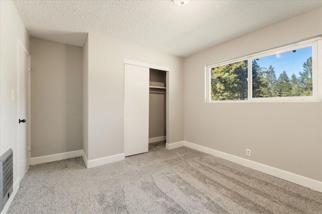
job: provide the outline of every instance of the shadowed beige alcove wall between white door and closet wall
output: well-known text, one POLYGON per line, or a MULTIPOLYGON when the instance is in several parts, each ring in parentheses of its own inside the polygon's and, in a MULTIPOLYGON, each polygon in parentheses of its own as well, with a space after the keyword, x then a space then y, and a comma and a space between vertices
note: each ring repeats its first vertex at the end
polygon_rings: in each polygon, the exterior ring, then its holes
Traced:
POLYGON ((82 149, 83 48, 31 38, 31 157, 82 149))

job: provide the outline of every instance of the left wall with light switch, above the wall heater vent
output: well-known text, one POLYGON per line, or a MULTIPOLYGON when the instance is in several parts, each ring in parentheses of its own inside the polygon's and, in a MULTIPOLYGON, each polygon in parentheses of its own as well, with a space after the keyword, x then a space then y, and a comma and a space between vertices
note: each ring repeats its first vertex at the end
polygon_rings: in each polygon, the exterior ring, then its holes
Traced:
POLYGON ((30 53, 29 35, 12 1, 0 1, 0 10, 0 155, 12 148, 16 183, 19 171, 17 38, 30 53), (15 100, 11 99, 11 90, 15 90, 15 100))

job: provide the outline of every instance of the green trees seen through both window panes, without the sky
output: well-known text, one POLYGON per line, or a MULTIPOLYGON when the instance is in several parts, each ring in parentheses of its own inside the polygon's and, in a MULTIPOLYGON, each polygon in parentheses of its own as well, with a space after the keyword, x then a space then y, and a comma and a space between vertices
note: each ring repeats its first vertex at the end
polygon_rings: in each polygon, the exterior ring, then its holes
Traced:
MULTIPOLYGON (((312 96, 312 57, 303 63, 303 70, 288 77, 283 71, 276 77, 273 66, 260 67, 252 62, 253 97, 312 96)), ((248 61, 239 61, 211 68, 211 100, 247 100, 248 61)))

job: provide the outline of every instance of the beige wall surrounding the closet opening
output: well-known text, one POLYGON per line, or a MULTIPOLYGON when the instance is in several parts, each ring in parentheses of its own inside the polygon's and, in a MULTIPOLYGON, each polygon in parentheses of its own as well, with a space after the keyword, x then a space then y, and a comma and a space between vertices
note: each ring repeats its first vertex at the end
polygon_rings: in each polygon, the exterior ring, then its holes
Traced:
POLYGON ((88 40, 89 160, 124 153, 124 58, 170 68, 167 140, 182 141, 183 59, 92 33, 88 40))

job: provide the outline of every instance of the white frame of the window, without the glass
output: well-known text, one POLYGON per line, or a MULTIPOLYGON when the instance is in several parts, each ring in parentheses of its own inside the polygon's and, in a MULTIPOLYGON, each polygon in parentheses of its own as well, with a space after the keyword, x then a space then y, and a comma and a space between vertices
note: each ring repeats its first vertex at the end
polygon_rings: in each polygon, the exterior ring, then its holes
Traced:
POLYGON ((322 37, 317 37, 291 45, 274 48, 271 50, 251 54, 244 57, 234 58, 230 60, 221 61, 205 66, 205 102, 269 102, 269 101, 316 101, 322 100, 322 37), (252 61, 276 54, 285 53, 301 48, 312 47, 312 96, 298 96, 298 97, 253 97, 253 71, 252 61), (320 59, 320 60, 318 60, 320 59), (239 61, 248 60, 248 97, 247 100, 211 100, 211 69, 218 66, 223 66, 239 61))

